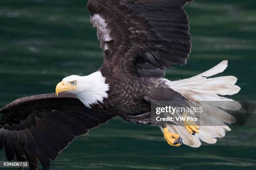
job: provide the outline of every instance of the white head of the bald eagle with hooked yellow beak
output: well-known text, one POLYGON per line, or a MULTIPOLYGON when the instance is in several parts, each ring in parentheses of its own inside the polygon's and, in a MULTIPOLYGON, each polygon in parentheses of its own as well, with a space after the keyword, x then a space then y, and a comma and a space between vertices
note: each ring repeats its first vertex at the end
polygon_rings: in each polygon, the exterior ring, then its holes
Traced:
POLYGON ((74 93, 84 105, 90 108, 91 104, 103 102, 104 98, 108 98, 109 85, 105 80, 100 71, 87 76, 71 75, 59 82, 56 86, 56 94, 74 93))

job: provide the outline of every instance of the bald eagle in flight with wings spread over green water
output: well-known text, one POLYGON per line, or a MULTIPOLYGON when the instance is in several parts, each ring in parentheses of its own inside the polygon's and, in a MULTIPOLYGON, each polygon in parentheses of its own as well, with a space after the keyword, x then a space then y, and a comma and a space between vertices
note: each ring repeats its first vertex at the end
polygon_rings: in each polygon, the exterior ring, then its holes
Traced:
MULTIPOLYGON (((56 93, 19 98, 0 110, 0 149, 5 148, 8 161, 28 161, 31 170, 40 161, 49 170, 50 159, 76 136, 113 117, 159 125, 151 120, 152 101, 224 101, 223 95, 236 94, 236 77, 207 78, 223 72, 227 61, 188 79, 163 78, 170 65, 184 65, 189 56, 191 36, 183 7, 191 1, 89 0, 104 53, 102 66, 91 75, 65 77, 56 93)), ((169 145, 192 147, 199 147, 200 140, 216 143, 230 130, 224 125, 160 127, 169 145)))

